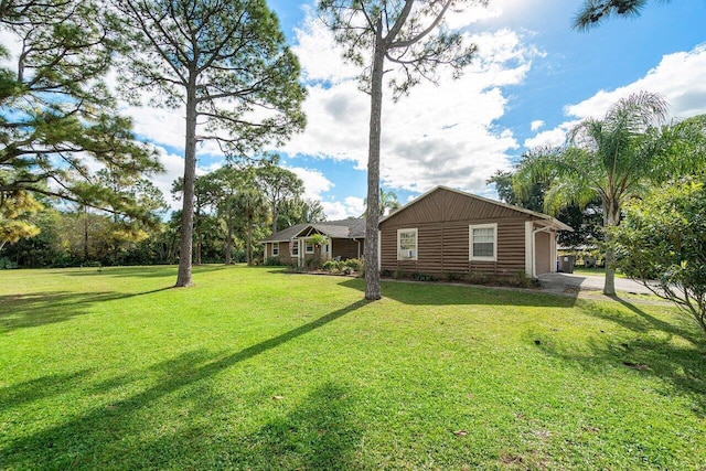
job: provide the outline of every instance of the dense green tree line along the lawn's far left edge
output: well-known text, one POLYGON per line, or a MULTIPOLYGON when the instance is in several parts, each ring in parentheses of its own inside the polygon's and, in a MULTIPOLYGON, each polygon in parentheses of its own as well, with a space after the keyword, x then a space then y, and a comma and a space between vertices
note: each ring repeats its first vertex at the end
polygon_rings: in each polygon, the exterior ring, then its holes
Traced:
MULTIPOLYGON (((26 216, 33 237, 6 244, 0 268, 176 264, 181 212, 168 216, 162 192, 149 180, 110 182, 114 191, 136 201, 146 217, 127 216, 79 202, 38 196, 40 211, 26 216)), ((325 221, 321 204, 306 200, 303 182, 274 163, 225 165, 200 175, 195 184, 193 263, 253 263, 261 257, 258 240, 293 224, 325 221)), ((182 180, 172 185, 181 197, 182 180)))

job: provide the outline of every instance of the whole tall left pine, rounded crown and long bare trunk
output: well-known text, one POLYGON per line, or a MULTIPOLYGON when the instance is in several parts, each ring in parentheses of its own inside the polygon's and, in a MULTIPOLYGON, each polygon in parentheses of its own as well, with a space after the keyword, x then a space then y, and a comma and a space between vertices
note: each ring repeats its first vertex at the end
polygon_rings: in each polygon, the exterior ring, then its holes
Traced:
POLYGON ((113 2, 132 51, 125 61, 129 86, 185 108, 176 286, 189 286, 196 143, 215 140, 229 156, 247 156, 302 129, 299 63, 265 0, 113 2))

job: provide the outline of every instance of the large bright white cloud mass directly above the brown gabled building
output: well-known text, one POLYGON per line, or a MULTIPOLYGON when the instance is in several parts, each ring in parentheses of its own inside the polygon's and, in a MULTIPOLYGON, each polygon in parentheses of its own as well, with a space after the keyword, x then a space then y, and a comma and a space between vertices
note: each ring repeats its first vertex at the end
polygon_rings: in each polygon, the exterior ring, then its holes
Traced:
MULTIPOLYGON (((308 20, 308 29, 298 33, 300 41, 309 44, 308 35, 321 34, 313 24, 308 20)), ((479 53, 460 79, 451 79, 446 71, 439 86, 421 83, 397 103, 386 90, 381 157, 385 186, 424 192, 445 184, 480 192, 498 169, 510 167, 507 152, 518 144, 511 131, 494 125, 507 101, 500 87, 522 83, 532 60, 541 53, 510 30, 468 39, 478 44, 479 53)), ((284 151, 347 160, 356 169, 365 169, 370 97, 357 89, 351 74, 324 77, 318 72, 341 71, 343 61, 325 51, 327 44, 317 41, 317 45, 299 49, 300 61, 304 67, 314 64, 313 75, 332 84, 309 87, 307 130, 284 151)))

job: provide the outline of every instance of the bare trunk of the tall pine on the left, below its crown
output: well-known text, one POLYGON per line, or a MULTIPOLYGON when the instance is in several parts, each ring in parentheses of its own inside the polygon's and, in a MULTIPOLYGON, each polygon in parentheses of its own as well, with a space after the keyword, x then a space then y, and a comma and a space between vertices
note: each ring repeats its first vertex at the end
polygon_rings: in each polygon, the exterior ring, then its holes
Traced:
POLYGON ((191 286, 191 256, 194 232, 194 191, 196 181, 196 79, 189 76, 186 87, 186 143, 184 149, 184 197, 181 213, 181 246, 176 287, 191 286))

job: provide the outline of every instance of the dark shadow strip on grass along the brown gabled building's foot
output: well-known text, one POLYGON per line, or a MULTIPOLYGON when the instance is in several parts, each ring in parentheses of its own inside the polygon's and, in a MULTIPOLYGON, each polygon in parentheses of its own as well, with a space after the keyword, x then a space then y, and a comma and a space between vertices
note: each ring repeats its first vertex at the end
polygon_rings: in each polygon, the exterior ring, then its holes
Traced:
MULTIPOLYGON (((365 292, 365 280, 347 279, 341 286, 365 292)), ((443 282, 383 281, 383 297, 409 306, 528 306, 570 308, 576 296, 553 296, 530 289, 492 288, 443 282)))

